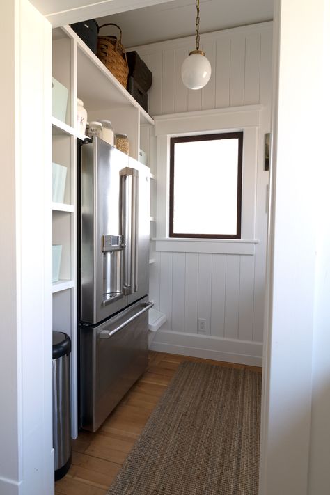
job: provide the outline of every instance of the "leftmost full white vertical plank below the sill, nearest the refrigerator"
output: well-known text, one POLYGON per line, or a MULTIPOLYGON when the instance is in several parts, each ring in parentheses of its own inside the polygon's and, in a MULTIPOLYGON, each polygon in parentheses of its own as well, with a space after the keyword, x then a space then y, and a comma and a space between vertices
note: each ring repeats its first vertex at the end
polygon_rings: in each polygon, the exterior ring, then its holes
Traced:
POLYGON ((166 329, 172 329, 172 253, 160 254, 160 273, 159 273, 159 309, 166 314, 166 329))

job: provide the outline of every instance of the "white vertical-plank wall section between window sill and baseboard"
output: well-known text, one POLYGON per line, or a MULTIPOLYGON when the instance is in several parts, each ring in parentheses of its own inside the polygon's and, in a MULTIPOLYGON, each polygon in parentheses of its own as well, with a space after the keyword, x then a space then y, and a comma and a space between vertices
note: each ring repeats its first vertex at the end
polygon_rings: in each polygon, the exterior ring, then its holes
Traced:
POLYGON ((198 333, 201 318, 205 335, 253 340, 255 256, 156 254, 159 262, 150 267, 150 297, 155 308, 166 313, 162 329, 198 333))

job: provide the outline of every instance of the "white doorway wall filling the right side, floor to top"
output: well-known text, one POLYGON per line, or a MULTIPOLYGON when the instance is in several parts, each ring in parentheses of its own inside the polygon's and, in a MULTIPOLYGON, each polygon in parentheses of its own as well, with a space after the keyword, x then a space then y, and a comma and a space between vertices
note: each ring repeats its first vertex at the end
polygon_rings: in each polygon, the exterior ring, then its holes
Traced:
POLYGON ((329 159, 322 143, 329 139, 329 1, 276 1, 274 33, 260 495, 326 495, 330 260, 329 193, 324 184, 329 184, 329 159))

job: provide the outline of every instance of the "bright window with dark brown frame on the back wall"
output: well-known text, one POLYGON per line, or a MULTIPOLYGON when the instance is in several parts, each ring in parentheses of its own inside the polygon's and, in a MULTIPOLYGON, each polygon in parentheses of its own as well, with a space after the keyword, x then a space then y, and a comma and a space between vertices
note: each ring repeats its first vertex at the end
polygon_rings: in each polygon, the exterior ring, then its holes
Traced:
POLYGON ((243 132, 171 138, 170 237, 240 239, 243 132))

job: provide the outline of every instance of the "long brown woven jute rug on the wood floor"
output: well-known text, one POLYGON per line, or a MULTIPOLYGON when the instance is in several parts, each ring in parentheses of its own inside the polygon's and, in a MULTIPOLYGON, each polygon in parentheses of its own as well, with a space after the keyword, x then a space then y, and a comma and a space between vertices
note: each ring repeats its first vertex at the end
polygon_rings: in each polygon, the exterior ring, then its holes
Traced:
POLYGON ((257 495, 261 375, 181 363, 108 495, 257 495))

